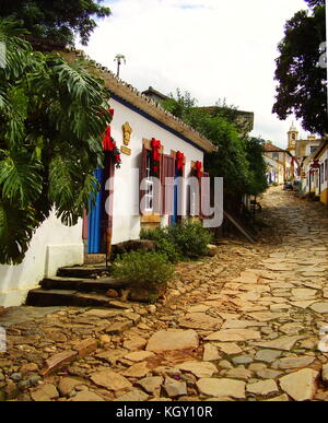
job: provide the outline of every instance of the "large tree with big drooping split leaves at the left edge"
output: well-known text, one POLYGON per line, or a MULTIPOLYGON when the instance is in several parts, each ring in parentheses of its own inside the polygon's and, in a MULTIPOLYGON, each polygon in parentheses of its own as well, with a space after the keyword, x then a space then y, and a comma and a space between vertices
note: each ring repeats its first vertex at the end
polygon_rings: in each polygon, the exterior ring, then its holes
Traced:
POLYGON ((7 66, 0 68, 0 262, 23 260, 51 210, 77 223, 97 190, 109 94, 83 63, 35 52, 0 20, 7 66))

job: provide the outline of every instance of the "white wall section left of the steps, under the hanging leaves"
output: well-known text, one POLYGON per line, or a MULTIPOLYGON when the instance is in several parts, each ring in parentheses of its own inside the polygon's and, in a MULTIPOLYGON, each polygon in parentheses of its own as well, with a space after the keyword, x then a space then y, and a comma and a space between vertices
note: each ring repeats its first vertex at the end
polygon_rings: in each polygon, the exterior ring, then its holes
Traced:
POLYGON ((17 306, 27 292, 62 266, 83 263, 82 220, 65 226, 51 214, 33 236, 25 259, 17 266, 0 265, 0 306, 17 306))

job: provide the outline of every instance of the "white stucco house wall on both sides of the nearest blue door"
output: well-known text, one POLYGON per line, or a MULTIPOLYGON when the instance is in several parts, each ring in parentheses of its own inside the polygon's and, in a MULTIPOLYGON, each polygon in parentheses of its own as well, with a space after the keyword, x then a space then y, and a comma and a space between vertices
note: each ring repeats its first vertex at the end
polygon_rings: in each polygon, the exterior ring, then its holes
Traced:
MULTIPOLYGON (((164 154, 171 154, 171 150, 183 152, 186 176, 189 175, 191 161, 203 162, 203 152, 115 99, 110 101, 110 107, 115 110, 112 136, 119 149, 124 145, 121 126, 128 121, 133 130, 129 145, 131 155, 121 153, 121 167, 115 172, 113 244, 117 244, 138 238, 140 234, 138 169, 142 140, 160 140, 164 154)), ((186 205, 186 187, 183 195, 186 205)), ((162 223, 168 223, 167 215, 162 218, 162 223)), ((58 268, 63 266, 82 265, 83 256, 82 220, 75 226, 67 227, 51 214, 36 231, 21 265, 0 265, 0 306, 23 304, 28 291, 46 275, 56 275, 58 268)))

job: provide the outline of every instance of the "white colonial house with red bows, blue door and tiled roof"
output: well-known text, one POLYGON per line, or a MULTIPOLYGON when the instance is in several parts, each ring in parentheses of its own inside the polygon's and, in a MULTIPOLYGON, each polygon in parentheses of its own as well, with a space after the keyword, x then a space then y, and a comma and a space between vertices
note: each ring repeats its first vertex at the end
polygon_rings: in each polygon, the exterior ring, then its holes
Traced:
MULTIPOLYGON (((75 50, 60 54, 68 61, 84 55, 75 50)), ((102 186, 96 204, 72 227, 62 225, 52 214, 36 231, 21 265, 0 266, 0 306, 23 304, 40 280, 56 275, 60 267, 82 265, 86 254, 108 252, 108 245, 138 238, 142 227, 174 224, 179 214, 197 211, 187 178, 194 176, 200 181, 204 152, 212 152, 214 146, 106 68, 98 63, 94 67, 112 94, 108 108, 113 111, 104 137, 106 165, 96 171, 102 186), (156 198, 155 176, 162 188, 161 200, 156 198), (180 177, 183 183, 165 186, 167 177, 173 181, 180 177)))

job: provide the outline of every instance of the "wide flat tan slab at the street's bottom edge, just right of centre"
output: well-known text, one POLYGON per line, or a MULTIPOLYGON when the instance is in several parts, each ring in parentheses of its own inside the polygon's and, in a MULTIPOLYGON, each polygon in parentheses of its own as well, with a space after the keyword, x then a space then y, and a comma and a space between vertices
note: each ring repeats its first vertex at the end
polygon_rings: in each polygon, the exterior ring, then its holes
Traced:
POLYGON ((199 379, 196 385, 201 393, 209 397, 246 398, 246 383, 243 380, 203 378, 199 379))

